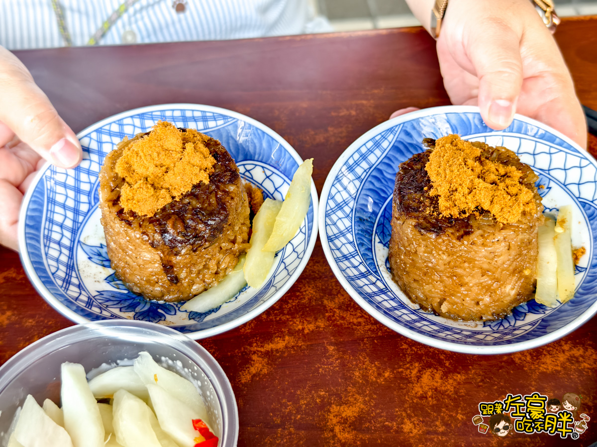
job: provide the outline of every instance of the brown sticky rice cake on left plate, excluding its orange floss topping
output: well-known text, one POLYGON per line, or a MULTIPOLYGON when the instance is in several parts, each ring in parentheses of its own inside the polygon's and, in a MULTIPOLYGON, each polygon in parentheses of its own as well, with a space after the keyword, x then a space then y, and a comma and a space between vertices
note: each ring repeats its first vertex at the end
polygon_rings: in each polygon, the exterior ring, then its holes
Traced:
POLYGON ((122 141, 100 172, 101 224, 112 268, 134 293, 167 302, 188 300, 217 284, 249 247, 247 193, 234 160, 216 139, 192 129, 178 131, 183 147, 201 144, 215 163, 208 182, 192 185, 163 206, 159 200, 150 203, 160 206, 151 215, 125 209, 123 188, 130 185, 116 169, 127 148, 149 134, 122 141))

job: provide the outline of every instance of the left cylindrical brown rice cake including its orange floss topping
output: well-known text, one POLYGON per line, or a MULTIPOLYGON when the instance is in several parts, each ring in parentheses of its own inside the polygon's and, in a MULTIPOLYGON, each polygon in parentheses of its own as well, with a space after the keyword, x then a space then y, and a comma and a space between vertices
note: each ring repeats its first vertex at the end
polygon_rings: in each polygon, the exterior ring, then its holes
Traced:
POLYGON ((146 299, 190 299, 249 247, 247 193, 234 160, 216 139, 170 123, 108 154, 100 209, 112 268, 146 299))

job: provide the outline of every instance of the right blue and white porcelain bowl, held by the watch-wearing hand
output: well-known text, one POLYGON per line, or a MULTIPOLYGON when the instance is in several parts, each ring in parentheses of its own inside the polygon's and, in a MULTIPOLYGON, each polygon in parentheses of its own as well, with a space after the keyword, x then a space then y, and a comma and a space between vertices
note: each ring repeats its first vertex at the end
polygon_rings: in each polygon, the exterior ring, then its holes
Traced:
POLYGON ((597 162, 559 132, 518 115, 507 129, 493 131, 477 107, 435 107, 381 123, 344 151, 325 181, 319 228, 340 283, 387 327, 441 349, 507 353, 553 342, 597 312, 596 199, 597 162), (392 281, 387 250, 398 166, 424 150, 423 138, 448 134, 515 151, 540 176, 547 213, 573 206, 573 246, 585 247, 586 254, 576 268, 576 294, 568 303, 547 308, 531 300, 497 321, 452 321, 422 311, 392 281))

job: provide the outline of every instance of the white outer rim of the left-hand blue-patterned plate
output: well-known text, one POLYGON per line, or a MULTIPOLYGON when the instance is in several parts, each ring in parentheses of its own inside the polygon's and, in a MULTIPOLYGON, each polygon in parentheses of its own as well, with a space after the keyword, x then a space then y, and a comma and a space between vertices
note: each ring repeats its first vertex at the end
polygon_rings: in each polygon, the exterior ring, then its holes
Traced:
MULTIPOLYGON (((97 123, 94 123, 91 126, 88 126, 87 128, 83 129, 81 132, 79 132, 77 134, 77 138, 81 139, 83 136, 89 134, 90 132, 95 131, 96 129, 101 128, 102 126, 104 126, 106 124, 112 123, 112 122, 122 119, 122 118, 126 118, 128 116, 133 116, 133 115, 136 115, 139 113, 146 113, 146 112, 160 111, 160 110, 171 110, 171 109, 208 111, 208 112, 223 114, 225 116, 230 116, 235 119, 247 122, 250 125, 255 126, 256 128, 259 128, 261 131, 265 132, 267 135, 271 136, 273 139, 278 141, 285 148, 285 150, 288 151, 288 153, 293 157, 293 159, 298 164, 303 163, 303 159, 301 159, 301 157, 298 155, 297 151, 294 150, 294 148, 290 144, 288 144, 288 142, 284 138, 282 138, 278 133, 274 132, 272 129, 270 129, 266 125, 260 123, 257 120, 254 120, 251 117, 245 116, 242 113, 228 110, 226 108, 215 107, 213 105, 174 103, 174 104, 147 105, 146 107, 134 108, 131 110, 123 111, 121 113, 117 113, 117 114, 107 117, 97 123)), ((69 309, 65 305, 63 305, 63 303, 61 303, 60 300, 58 300, 58 299, 56 299, 56 297, 54 297, 54 295, 48 290, 47 287, 45 287, 45 285, 42 283, 42 281, 39 279, 38 275, 36 274, 35 269, 33 268, 31 259, 29 257, 29 253, 27 253, 27 250, 26 250, 26 246, 24 243, 24 240, 25 240, 24 222, 25 222, 25 218, 26 218, 27 206, 29 204, 29 201, 31 200, 31 195, 33 193, 33 190, 35 189, 35 185, 37 185, 38 182, 40 181, 40 179, 42 178, 42 176, 44 176, 44 173, 48 169, 49 166, 51 166, 50 162, 47 162, 44 164, 42 169, 40 169, 39 172, 35 175, 35 178, 33 178, 33 181, 31 182, 31 185, 30 185, 29 189, 27 190, 27 193, 23 197, 23 203, 21 204, 21 210, 19 213, 19 228, 18 228, 19 256, 21 258, 21 263, 23 264, 23 268, 27 274, 27 277, 29 277, 29 281, 31 281, 31 283, 33 284, 33 287, 35 287, 35 290, 38 291, 38 293, 42 297, 45 298, 46 302, 50 306, 52 306, 57 312, 61 313, 62 315, 66 316, 66 318, 68 318, 71 321, 74 321, 76 323, 85 323, 88 321, 94 321, 94 320, 87 319, 82 315, 79 315, 75 311, 72 311, 71 309, 69 309)), ((295 283, 295 281, 298 279, 300 274, 303 272, 305 266, 307 265, 307 262, 309 262, 311 254, 313 252, 313 248, 315 247, 315 242, 317 240, 317 231, 318 231, 318 224, 319 224, 319 219, 318 219, 319 201, 318 201, 317 190, 315 188, 315 182, 313 182, 313 180, 311 180, 311 200, 313 201, 313 231, 311 232, 311 237, 309 239, 309 242, 307 243, 307 248, 304 252, 303 259, 300 260, 296 270, 294 271, 294 273, 292 275, 290 275, 290 278, 288 278, 288 280, 285 281, 284 285, 282 285, 276 291, 276 293, 272 295, 272 297, 270 297, 265 302, 261 303, 256 308, 251 309, 249 312, 244 313, 243 315, 240 315, 237 318, 232 319, 224 324, 220 324, 220 325, 217 325, 217 326, 214 326, 214 327, 211 327, 208 329, 204 329, 201 331, 187 332, 187 333, 184 333, 184 335, 186 335, 187 337, 190 337, 194 340, 199 340, 199 339, 204 339, 205 337, 211 337, 211 336, 215 336, 217 334, 224 333, 226 331, 229 331, 235 327, 238 327, 241 324, 244 324, 247 321, 250 321, 251 319, 255 318, 260 313, 263 313, 264 311, 269 309, 270 306, 275 304, 282 296, 284 296, 284 294, 295 283)), ((122 318, 122 319, 125 319, 125 318, 122 318)), ((171 327, 171 326, 167 326, 167 327, 171 327)), ((173 326, 171 328, 176 330, 176 326, 173 326)))

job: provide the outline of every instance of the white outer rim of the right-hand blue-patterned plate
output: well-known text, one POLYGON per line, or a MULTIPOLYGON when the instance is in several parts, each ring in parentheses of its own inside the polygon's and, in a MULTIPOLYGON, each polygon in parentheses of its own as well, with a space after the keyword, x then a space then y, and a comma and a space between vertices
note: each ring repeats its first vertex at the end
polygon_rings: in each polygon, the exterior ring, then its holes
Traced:
MULTIPOLYGON (((340 172, 340 168, 349 159, 353 153, 358 150, 365 142, 369 141, 374 136, 380 134, 380 132, 386 131, 389 128, 392 128, 400 123, 404 123, 416 118, 426 117, 430 115, 435 115, 439 113, 479 113, 479 107, 475 105, 444 105, 441 107, 431 107, 431 108, 424 108, 421 110, 416 110, 410 113, 406 113, 404 115, 395 117, 393 119, 387 120, 377 126, 375 126, 370 131, 365 132, 365 134, 359 136, 355 142, 349 145, 346 150, 341 154, 341 156, 336 160, 334 166, 330 170, 327 178, 325 179, 324 188, 321 191, 321 201, 319 203, 319 226, 321 226, 321 245, 324 249, 325 257, 330 264, 334 275, 344 290, 346 290, 349 295, 355 300, 359 306, 361 306, 369 315, 373 316, 373 318, 377 319, 381 324, 389 327, 390 329, 402 334, 409 339, 416 340, 417 342, 427 344, 433 347, 439 347, 440 349, 450 350, 453 352, 461 352, 466 354, 505 354, 511 352, 518 352, 521 350, 533 349, 534 347, 543 346, 543 344, 551 343, 555 340, 564 337, 565 335, 571 333, 576 328, 583 325, 585 322, 589 321, 595 313, 597 313, 597 302, 593 303, 589 309, 584 311, 581 315, 577 316, 577 318, 573 319, 573 321, 569 322, 568 324, 562 326, 558 330, 550 332, 549 334, 545 334, 544 336, 537 337, 533 340, 526 340, 525 342, 519 343, 510 343, 510 344, 500 344, 494 346, 473 346, 469 344, 460 344, 460 343, 451 343, 446 342, 444 340, 434 339, 433 337, 429 337, 423 334, 420 334, 416 331, 413 331, 407 327, 398 324, 397 322, 393 321, 392 319, 388 318, 386 315, 383 315, 376 307, 371 305, 370 303, 365 300, 355 288, 350 285, 349 281, 346 280, 344 277, 343 272, 338 267, 336 260, 334 260, 334 256, 330 249, 330 243, 328 241, 328 234, 325 231, 325 207, 327 206, 327 201, 330 196, 331 186, 334 182, 334 179, 340 172)), ((541 129, 547 129, 552 134, 558 136, 559 138, 566 141, 568 144, 572 145, 578 151, 580 151, 584 156, 586 156, 589 160, 593 161, 593 164, 597 164, 595 159, 589 154, 586 150, 581 148, 576 142, 572 141, 570 138, 561 134, 561 132, 556 131, 555 129, 549 128, 549 126, 544 125, 543 123, 538 122, 537 120, 516 114, 514 119, 520 120, 522 122, 531 124, 533 126, 537 126, 541 129)))

